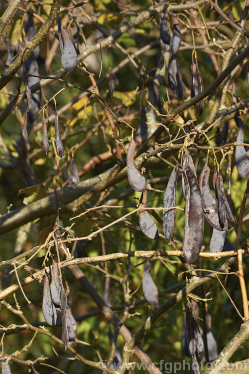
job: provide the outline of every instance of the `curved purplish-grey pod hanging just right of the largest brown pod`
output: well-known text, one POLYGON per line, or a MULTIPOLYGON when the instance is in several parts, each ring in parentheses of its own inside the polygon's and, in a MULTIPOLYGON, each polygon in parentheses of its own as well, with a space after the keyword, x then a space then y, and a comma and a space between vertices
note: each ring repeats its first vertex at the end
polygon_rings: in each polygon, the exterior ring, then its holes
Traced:
POLYGON ((209 224, 217 230, 222 230, 218 214, 218 200, 209 187, 210 168, 208 167, 208 156, 204 168, 200 174, 199 186, 204 204, 204 215, 209 224))

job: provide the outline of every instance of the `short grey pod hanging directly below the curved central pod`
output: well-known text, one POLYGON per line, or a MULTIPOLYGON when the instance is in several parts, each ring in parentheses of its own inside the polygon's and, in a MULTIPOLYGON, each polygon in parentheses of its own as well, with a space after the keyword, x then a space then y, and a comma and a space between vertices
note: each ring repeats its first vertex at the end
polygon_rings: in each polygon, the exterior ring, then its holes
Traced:
MULTIPOLYGON (((139 203, 140 208, 147 207, 147 191, 143 191, 139 203)), ((158 239, 158 231, 155 221, 147 210, 139 210, 139 226, 141 231, 150 239, 158 239)))

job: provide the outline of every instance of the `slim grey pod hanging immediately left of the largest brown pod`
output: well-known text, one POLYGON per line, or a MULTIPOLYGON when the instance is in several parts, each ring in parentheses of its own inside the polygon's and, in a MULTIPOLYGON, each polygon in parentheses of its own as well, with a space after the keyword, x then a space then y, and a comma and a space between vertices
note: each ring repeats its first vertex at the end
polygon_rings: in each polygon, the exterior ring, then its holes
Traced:
MULTIPOLYGON (((176 167, 173 169, 169 178, 167 188, 165 190, 163 198, 163 208, 169 208, 170 206, 176 205, 176 184, 179 175, 179 164, 177 162, 176 167)), ((166 239, 170 242, 175 227, 176 209, 163 210, 163 234, 166 239)))

